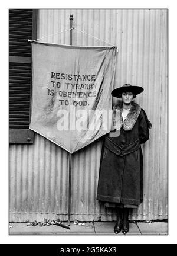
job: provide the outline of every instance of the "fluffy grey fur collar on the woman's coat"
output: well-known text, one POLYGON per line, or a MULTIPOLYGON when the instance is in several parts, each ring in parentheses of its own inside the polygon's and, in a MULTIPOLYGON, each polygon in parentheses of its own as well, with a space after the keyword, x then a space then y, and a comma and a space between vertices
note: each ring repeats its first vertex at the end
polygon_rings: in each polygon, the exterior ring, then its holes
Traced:
POLYGON ((113 107, 113 126, 115 129, 120 130, 123 126, 123 129, 128 131, 132 130, 133 126, 136 123, 137 118, 139 117, 141 107, 132 102, 132 107, 130 108, 129 113, 127 114, 126 119, 122 119, 122 103, 114 105, 113 107))

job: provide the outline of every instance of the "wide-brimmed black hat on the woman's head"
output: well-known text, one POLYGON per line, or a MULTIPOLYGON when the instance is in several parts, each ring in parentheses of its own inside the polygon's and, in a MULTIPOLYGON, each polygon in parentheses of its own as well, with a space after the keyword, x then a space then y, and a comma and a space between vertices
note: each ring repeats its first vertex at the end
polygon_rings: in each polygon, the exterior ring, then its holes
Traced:
POLYGON ((112 95, 116 98, 122 97, 122 92, 132 92, 133 94, 137 95, 143 92, 143 87, 139 87, 136 85, 124 84, 122 87, 116 88, 112 91, 112 95))

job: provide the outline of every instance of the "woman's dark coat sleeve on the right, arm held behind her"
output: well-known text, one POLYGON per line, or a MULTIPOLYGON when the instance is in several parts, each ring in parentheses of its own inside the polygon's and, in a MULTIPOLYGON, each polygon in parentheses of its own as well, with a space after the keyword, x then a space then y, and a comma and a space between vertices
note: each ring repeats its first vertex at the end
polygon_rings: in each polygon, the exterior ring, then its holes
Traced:
POLYGON ((139 114, 139 140, 141 144, 149 140, 149 127, 142 110, 139 114))

